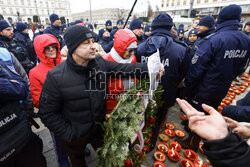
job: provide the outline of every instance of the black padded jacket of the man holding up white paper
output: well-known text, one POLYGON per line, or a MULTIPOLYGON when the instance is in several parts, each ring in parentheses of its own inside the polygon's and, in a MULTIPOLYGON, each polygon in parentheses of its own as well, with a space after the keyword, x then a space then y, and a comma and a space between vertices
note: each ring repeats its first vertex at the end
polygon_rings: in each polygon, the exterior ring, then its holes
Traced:
POLYGON ((96 56, 83 67, 68 55, 47 74, 39 103, 42 122, 62 140, 86 139, 106 114, 106 77, 115 77, 118 71, 126 72, 120 73, 121 77, 139 77, 142 73, 138 70, 131 73, 136 68, 148 75, 146 64, 119 64, 96 56))

